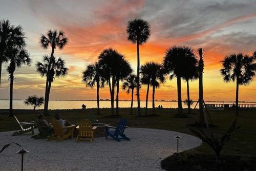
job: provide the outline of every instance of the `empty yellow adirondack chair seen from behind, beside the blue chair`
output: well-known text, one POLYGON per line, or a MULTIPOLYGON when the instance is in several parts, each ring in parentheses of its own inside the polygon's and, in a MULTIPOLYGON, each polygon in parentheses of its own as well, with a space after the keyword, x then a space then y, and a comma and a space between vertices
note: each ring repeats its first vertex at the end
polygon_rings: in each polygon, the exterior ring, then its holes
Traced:
POLYGON ((82 122, 79 124, 79 134, 77 136, 78 141, 90 141, 90 143, 94 139, 94 132, 97 129, 97 126, 92 126, 92 123, 87 120, 83 119, 82 122))

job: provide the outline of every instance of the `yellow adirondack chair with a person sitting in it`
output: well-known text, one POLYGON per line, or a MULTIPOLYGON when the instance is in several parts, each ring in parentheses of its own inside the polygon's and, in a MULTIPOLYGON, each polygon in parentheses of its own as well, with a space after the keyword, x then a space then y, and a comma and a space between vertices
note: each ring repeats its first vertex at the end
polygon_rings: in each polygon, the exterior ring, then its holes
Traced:
POLYGON ((74 129, 76 127, 75 125, 62 127, 56 119, 52 119, 51 122, 54 130, 54 134, 51 135, 48 138, 48 140, 61 141, 61 140, 68 139, 69 137, 73 138, 74 129), (65 133, 66 129, 67 129, 67 132, 65 133))

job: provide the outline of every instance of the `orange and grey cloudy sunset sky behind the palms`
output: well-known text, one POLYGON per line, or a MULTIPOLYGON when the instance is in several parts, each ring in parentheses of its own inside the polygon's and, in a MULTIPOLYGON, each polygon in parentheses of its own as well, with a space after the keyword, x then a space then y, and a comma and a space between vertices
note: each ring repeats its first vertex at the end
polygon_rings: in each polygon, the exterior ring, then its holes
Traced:
MULTIPOLYGON (((114 48, 125 55, 136 71, 136 46, 127 40, 127 22, 143 18, 150 23, 152 34, 140 47, 141 64, 162 62, 165 50, 173 45, 191 46, 206 50, 204 57, 205 100, 233 101, 234 83, 223 81, 220 61, 230 53, 251 55, 256 50, 256 1, 4 1, 0 4, 0 19, 21 25, 26 32, 27 50, 32 65, 15 72, 14 99, 29 95, 44 95, 45 77, 35 69, 35 62, 50 54, 51 49, 40 47, 39 36, 49 29, 65 32, 69 38, 63 50, 55 56, 66 60, 69 73, 52 83, 50 99, 96 99, 96 89, 81 82, 82 71, 97 60, 105 48, 114 48)), ((0 99, 9 99, 6 65, 2 70, 0 99)), ((167 81, 156 90, 156 99, 177 99, 176 79, 167 81)), ((145 99, 146 88, 141 90, 145 99)), ((150 92, 151 94, 152 92, 150 92)), ((190 82, 191 99, 198 99, 198 80, 190 82)), ((256 81, 240 87, 240 100, 256 101, 256 81)), ((186 84, 182 81, 182 97, 186 98, 186 84)), ((100 90, 100 98, 110 98, 107 88, 100 90)), ((120 99, 130 99, 124 91, 120 99)), ((151 99, 151 96, 150 96, 151 99)))

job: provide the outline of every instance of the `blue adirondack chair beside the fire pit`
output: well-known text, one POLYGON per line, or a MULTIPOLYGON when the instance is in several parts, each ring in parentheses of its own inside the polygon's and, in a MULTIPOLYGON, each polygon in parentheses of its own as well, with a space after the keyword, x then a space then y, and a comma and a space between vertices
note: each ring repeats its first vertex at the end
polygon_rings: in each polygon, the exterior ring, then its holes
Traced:
POLYGON ((124 134, 124 130, 127 127, 126 125, 127 125, 127 120, 126 119, 121 119, 117 123, 116 127, 106 125, 105 126, 105 128, 106 128, 106 139, 108 139, 108 136, 110 136, 111 138, 115 139, 118 142, 120 142, 121 139, 126 139, 126 140, 130 141, 130 138, 126 137, 125 134, 124 134), (120 138, 118 136, 120 136, 120 138))

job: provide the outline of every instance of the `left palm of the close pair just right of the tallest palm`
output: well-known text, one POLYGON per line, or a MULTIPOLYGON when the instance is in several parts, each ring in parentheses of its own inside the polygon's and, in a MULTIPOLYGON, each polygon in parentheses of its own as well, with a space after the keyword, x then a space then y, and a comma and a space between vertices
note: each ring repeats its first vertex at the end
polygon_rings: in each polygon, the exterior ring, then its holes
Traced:
POLYGON ((140 73, 141 73, 141 83, 147 86, 146 89, 146 109, 145 109, 145 115, 147 115, 147 102, 148 102, 148 93, 150 91, 150 83, 152 79, 152 65, 150 62, 146 62, 144 65, 140 67, 140 73))

